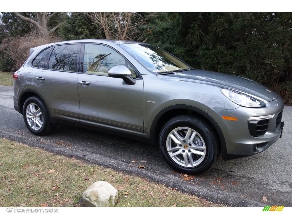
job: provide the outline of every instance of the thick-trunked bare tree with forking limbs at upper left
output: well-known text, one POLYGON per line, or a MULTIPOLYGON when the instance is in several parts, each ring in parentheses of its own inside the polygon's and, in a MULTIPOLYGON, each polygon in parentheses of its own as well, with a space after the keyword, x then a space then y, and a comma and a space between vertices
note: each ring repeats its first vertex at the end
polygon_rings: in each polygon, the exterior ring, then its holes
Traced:
POLYGON ((25 17, 24 15, 18 13, 18 12, 13 12, 16 16, 18 16, 20 19, 30 22, 32 25, 36 26, 36 29, 38 30, 39 34, 41 36, 48 36, 51 34, 53 31, 55 31, 63 22, 59 23, 52 29, 48 30, 47 24, 48 20, 51 19, 53 16, 56 15, 57 12, 54 13, 47 13, 47 12, 36 12, 35 19, 25 17))

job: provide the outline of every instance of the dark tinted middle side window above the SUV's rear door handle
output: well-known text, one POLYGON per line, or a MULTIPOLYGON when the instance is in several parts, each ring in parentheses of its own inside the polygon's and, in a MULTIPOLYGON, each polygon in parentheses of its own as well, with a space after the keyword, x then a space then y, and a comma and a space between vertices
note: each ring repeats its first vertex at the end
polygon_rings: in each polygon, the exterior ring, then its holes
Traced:
POLYGON ((75 72, 77 44, 55 46, 49 60, 49 69, 75 72))

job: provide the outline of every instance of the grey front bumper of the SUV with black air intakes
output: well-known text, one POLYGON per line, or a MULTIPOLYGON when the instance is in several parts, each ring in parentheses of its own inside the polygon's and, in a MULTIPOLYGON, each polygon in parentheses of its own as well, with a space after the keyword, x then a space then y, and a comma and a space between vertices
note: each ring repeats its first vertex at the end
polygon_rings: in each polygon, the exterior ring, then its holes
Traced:
MULTIPOLYGON (((249 108, 238 107, 237 109, 212 109, 207 110, 223 132, 226 148, 222 148, 223 160, 230 160, 240 157, 258 154, 269 148, 281 136, 284 122, 281 121, 281 113, 284 109, 284 102, 281 97, 266 103, 266 107, 249 108), (274 114, 273 118, 265 121, 256 121, 251 126, 248 121, 250 117, 260 117, 274 114), (224 120, 222 116, 236 117, 237 121, 224 120), (265 126, 261 126, 265 124, 265 126), (266 129, 259 132, 260 128, 266 129), (257 134, 254 134, 257 133, 257 134)), ((224 146, 222 146, 224 147, 224 146)))

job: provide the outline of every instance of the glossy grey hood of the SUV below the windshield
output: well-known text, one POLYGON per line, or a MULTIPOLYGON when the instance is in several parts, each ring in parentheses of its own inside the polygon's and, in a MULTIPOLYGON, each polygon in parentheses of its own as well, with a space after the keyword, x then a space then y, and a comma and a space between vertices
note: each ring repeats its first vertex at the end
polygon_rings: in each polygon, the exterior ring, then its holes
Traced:
POLYGON ((271 91, 256 81, 230 74, 194 69, 185 72, 178 72, 175 74, 168 74, 165 76, 180 78, 180 80, 190 82, 212 84, 214 86, 231 88, 250 94, 252 96, 256 96, 265 102, 270 102, 278 97, 277 93, 271 91))

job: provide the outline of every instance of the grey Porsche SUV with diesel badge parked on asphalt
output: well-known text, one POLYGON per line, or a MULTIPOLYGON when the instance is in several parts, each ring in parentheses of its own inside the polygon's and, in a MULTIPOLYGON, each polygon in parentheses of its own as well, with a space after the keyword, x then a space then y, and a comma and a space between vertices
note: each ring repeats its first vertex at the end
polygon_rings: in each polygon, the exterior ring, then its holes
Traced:
POLYGON ((200 174, 281 138, 284 102, 243 77, 193 69, 145 43, 76 40, 31 48, 14 73, 14 108, 35 135, 58 124, 159 145, 177 171, 200 174))

